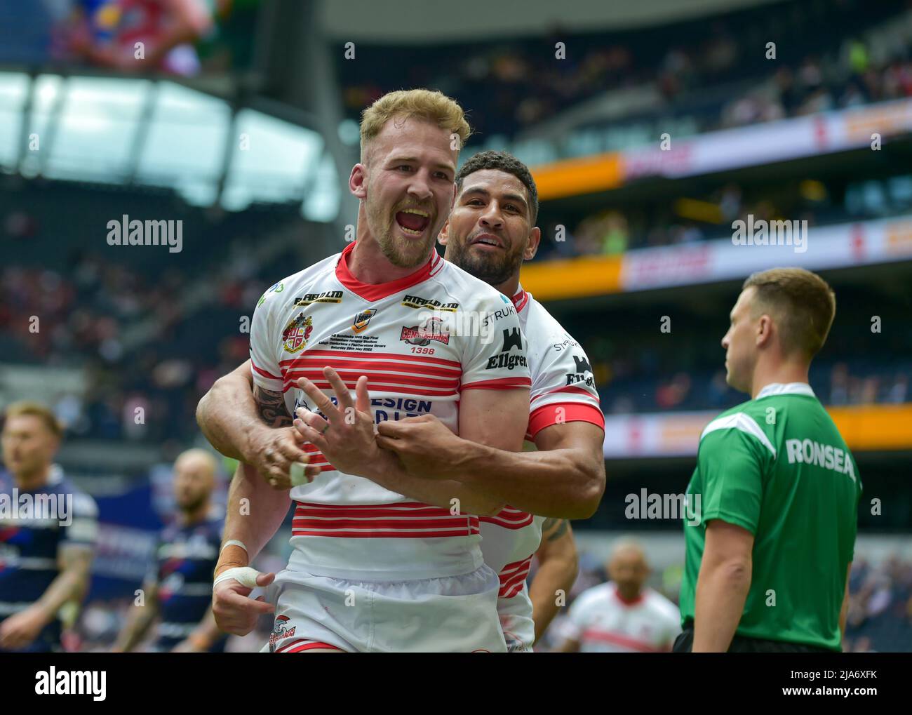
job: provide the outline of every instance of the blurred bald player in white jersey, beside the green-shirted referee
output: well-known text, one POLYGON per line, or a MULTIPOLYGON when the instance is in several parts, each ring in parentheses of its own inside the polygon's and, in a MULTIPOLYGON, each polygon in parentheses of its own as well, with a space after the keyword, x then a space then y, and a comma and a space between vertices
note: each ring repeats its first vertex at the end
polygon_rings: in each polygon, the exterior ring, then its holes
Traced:
POLYGON ((619 542, 605 567, 611 580, 576 596, 561 624, 564 642, 557 651, 670 651, 680 633, 678 606, 646 585, 649 566, 642 547, 635 541, 619 542))

